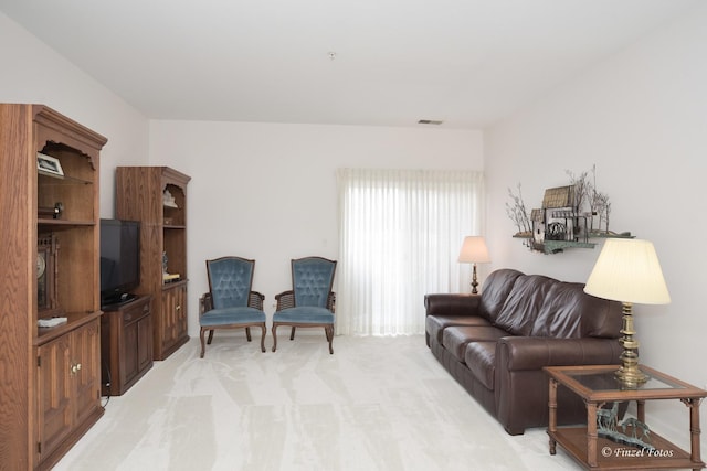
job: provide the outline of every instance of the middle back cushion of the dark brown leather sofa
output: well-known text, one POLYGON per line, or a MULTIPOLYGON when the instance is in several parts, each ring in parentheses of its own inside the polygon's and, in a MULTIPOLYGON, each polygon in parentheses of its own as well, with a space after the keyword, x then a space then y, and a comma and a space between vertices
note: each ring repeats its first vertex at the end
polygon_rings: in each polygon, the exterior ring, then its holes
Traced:
POLYGON ((494 325, 514 335, 530 335, 547 293, 557 282, 542 275, 518 277, 494 325))

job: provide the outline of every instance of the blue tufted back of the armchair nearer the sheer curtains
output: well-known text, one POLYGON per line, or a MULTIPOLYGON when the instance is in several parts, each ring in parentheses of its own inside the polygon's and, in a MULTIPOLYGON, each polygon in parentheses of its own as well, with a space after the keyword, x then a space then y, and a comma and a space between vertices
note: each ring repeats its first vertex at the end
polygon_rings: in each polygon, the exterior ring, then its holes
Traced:
POLYGON ((306 257, 292 260, 292 286, 295 306, 327 308, 336 260, 323 257, 306 257))

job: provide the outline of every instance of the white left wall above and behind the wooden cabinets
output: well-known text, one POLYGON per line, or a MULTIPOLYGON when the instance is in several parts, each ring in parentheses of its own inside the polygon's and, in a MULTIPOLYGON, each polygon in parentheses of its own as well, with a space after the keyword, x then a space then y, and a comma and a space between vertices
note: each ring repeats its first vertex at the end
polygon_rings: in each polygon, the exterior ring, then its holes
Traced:
POLYGON ((1 12, 0 60, 0 103, 48 105, 108 138, 101 153, 101 215, 113 217, 115 167, 147 163, 147 119, 1 12))

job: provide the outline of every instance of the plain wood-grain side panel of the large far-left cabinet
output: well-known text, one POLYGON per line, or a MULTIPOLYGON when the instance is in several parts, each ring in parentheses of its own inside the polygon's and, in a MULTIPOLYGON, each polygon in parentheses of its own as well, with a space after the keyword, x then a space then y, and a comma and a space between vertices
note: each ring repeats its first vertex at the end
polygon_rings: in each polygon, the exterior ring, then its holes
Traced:
POLYGON ((0 461, 29 468, 34 404, 29 378, 36 310, 34 161, 28 160, 32 116, 0 106, 0 461))

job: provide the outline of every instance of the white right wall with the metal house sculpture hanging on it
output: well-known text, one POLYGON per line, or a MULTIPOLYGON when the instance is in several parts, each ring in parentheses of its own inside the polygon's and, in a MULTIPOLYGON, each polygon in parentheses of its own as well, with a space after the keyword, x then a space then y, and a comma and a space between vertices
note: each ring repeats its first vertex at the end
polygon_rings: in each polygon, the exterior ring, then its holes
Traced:
MULTIPOLYGON (((699 387, 707 385, 705 57, 703 2, 485 133, 490 268, 585 281, 601 245, 530 253, 510 237, 516 228, 505 204, 508 188, 520 182, 526 204, 539 207, 545 189, 569 184, 566 170, 578 174, 597 164, 597 185, 612 202, 610 228, 655 244, 672 296, 668 306, 634 307, 642 363, 699 387)), ((687 446, 685 406, 653 403, 647 411, 687 446)), ((706 418, 703 407, 703 424, 706 418)))

